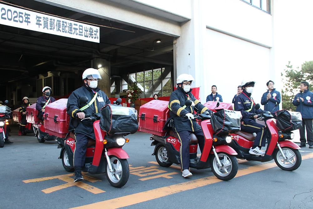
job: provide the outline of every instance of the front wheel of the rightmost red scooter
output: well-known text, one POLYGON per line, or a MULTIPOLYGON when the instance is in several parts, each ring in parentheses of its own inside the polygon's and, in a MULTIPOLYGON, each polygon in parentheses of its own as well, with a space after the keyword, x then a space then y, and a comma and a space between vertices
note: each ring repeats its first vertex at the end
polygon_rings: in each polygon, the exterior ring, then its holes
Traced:
POLYGON ((287 159, 284 159, 279 149, 275 149, 274 159, 276 165, 281 169, 288 171, 296 170, 297 168, 299 168, 302 161, 299 150, 289 147, 282 147, 281 149, 283 150, 283 153, 285 154, 287 159))

